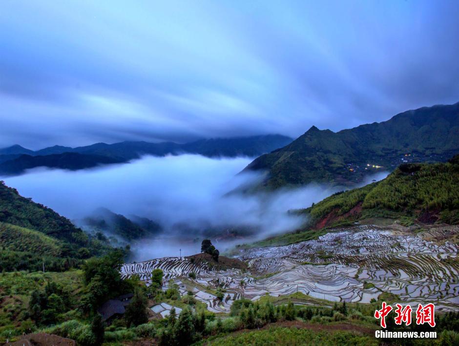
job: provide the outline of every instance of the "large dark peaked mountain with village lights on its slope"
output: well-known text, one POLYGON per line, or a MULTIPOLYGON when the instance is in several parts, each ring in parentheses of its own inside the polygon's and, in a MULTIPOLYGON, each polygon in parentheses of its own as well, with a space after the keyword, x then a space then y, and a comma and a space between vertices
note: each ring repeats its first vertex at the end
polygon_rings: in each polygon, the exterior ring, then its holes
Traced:
POLYGON ((311 127, 287 146, 261 155, 246 170, 268 172, 276 189, 316 182, 350 184, 399 163, 445 161, 459 152, 459 102, 423 107, 381 123, 334 133, 311 127))

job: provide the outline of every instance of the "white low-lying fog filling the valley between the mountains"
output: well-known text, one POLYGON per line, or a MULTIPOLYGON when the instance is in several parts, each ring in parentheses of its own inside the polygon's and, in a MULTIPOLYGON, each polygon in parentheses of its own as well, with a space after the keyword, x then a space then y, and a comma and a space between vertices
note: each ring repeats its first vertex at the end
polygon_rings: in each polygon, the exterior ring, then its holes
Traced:
MULTIPOLYGON (((188 154, 145 156, 127 164, 76 172, 35 169, 4 180, 21 195, 32 197, 69 219, 83 218, 104 207, 118 214, 157 221, 164 229, 161 235, 132 245, 132 260, 137 261, 178 256, 179 249, 182 255, 196 253, 202 232, 209 228, 223 233, 212 240, 220 251, 237 243, 293 231, 305 220, 288 213, 289 210, 307 208, 339 190, 309 185, 250 195, 232 192, 260 178, 257 173, 237 174, 251 160, 188 154), (235 229, 239 230, 238 237, 225 237, 228 230, 235 229), (241 237, 244 230, 251 232, 241 237)), ((381 172, 366 183, 386 175, 381 172)))

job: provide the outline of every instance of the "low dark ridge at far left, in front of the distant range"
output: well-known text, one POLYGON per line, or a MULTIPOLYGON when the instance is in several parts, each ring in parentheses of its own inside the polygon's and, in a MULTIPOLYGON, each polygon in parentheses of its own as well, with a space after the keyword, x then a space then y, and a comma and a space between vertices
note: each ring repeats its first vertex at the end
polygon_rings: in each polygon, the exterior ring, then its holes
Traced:
POLYGON ((78 153, 51 154, 44 156, 21 155, 15 159, 0 163, 0 174, 16 175, 34 167, 60 168, 65 170, 79 170, 100 164, 121 163, 122 159, 101 155, 78 153))

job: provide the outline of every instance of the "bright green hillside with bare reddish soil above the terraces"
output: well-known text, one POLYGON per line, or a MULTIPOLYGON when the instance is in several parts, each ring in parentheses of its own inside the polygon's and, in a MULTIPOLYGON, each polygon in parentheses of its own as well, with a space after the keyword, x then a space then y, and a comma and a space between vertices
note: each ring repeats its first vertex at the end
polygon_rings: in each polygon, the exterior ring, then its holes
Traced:
POLYGON ((337 192, 301 211, 315 229, 359 219, 459 223, 459 155, 446 163, 404 163, 385 179, 337 192))

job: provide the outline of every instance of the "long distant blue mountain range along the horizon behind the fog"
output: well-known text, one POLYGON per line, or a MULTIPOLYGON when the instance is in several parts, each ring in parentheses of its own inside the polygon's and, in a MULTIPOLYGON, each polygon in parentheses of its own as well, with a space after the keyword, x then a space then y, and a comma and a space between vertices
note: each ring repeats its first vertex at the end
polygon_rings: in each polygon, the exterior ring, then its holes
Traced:
POLYGON ((21 174, 34 167, 79 170, 100 164, 127 162, 142 155, 201 154, 208 157, 258 156, 290 143, 283 135, 203 139, 186 144, 173 142, 96 143, 85 147, 55 145, 33 152, 15 145, 0 150, 0 174, 21 174))

